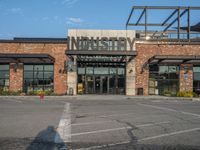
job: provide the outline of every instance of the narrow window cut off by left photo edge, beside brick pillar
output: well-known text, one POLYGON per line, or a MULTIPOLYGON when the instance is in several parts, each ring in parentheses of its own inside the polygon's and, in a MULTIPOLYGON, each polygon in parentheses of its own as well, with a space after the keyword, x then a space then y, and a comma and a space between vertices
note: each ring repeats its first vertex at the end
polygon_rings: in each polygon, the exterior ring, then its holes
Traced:
POLYGON ((0 65, 0 91, 9 89, 9 65, 0 65))

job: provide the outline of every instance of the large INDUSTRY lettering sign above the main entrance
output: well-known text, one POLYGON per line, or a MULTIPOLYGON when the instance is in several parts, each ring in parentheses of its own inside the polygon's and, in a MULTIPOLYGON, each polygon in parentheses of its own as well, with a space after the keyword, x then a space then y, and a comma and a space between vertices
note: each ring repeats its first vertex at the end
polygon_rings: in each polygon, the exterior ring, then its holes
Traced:
POLYGON ((135 39, 125 37, 68 37, 68 50, 133 50, 135 39))

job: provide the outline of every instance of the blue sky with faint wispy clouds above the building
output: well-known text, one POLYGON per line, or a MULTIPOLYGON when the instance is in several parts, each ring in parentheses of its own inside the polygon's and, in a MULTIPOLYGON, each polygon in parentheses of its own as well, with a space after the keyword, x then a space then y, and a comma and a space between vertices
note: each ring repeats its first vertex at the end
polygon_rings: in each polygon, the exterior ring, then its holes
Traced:
MULTIPOLYGON (((66 38, 68 29, 123 30, 132 6, 200 6, 200 0, 0 0, 0 39, 66 38)), ((159 21, 160 14, 153 16, 149 20, 159 21)))

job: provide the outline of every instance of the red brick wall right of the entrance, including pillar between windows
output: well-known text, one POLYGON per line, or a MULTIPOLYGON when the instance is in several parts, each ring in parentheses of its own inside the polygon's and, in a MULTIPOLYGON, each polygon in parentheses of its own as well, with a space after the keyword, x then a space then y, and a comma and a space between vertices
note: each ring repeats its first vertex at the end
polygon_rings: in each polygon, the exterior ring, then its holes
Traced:
MULTIPOLYGON (((148 95, 149 71, 142 71, 143 64, 154 55, 200 55, 200 45, 162 45, 136 43, 136 88, 144 88, 144 95, 148 95)), ((192 86, 191 71, 189 71, 189 80, 186 84, 184 80, 180 80, 180 90, 190 90, 192 86), (190 83, 189 83, 190 82, 190 83), (188 86, 189 87, 186 87, 188 86)), ((182 75, 181 75, 182 78, 182 75)))

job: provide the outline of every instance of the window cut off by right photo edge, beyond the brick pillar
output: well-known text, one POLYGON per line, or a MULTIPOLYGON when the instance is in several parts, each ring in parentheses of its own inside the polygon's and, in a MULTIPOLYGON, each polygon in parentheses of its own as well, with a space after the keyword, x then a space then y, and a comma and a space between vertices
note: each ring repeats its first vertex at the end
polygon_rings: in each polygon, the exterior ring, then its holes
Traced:
POLYGON ((193 91, 200 94, 200 66, 193 67, 193 91))

